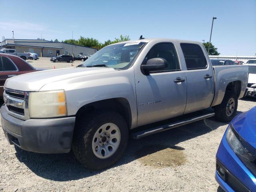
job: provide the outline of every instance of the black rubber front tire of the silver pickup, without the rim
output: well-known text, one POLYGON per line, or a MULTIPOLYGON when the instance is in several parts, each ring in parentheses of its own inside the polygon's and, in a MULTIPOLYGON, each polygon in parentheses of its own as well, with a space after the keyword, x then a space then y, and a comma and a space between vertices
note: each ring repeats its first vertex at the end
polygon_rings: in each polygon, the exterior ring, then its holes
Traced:
POLYGON ((76 122, 72 150, 77 160, 92 170, 101 170, 112 166, 123 156, 128 142, 128 126, 124 118, 113 110, 96 111, 86 119, 76 122), (95 132, 106 123, 114 123, 120 130, 120 144, 112 156, 101 159, 92 151, 95 132))

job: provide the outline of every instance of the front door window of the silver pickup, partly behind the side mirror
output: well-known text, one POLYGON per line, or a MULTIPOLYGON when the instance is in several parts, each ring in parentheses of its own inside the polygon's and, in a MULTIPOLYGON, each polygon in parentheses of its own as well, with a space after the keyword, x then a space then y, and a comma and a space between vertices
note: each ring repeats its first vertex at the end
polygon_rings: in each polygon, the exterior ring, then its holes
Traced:
POLYGON ((154 46, 147 54, 146 61, 152 58, 164 58, 168 62, 168 66, 164 71, 180 70, 178 56, 172 43, 161 43, 154 46))

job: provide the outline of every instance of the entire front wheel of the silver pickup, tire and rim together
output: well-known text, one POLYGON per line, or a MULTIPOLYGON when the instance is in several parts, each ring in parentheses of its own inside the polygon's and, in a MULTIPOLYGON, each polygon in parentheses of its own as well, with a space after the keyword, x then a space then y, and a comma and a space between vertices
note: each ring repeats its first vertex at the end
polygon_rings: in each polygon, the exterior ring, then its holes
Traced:
POLYGON ((128 127, 115 111, 94 112, 78 119, 72 150, 87 168, 100 170, 115 164, 124 154, 128 142, 128 127))

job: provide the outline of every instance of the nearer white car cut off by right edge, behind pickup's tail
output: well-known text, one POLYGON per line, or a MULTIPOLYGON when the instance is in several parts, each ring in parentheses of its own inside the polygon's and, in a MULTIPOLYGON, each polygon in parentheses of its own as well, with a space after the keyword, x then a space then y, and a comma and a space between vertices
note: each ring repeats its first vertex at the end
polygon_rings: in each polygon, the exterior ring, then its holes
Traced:
MULTIPOLYGON (((256 61, 256 60, 255 60, 256 61)), ((249 77, 247 84, 247 96, 256 97, 256 64, 248 65, 249 77)))

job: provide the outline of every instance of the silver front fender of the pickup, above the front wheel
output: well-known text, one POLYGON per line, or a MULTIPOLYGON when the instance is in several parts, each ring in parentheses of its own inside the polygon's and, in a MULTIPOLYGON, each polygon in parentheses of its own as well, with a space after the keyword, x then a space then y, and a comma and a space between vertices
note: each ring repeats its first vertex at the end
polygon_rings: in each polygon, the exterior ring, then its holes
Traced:
POLYGON ((133 67, 124 71, 114 71, 52 82, 43 86, 43 90, 64 89, 68 116, 76 115, 78 110, 92 102, 111 98, 125 98, 130 104, 132 127, 137 122, 137 105, 133 67))

